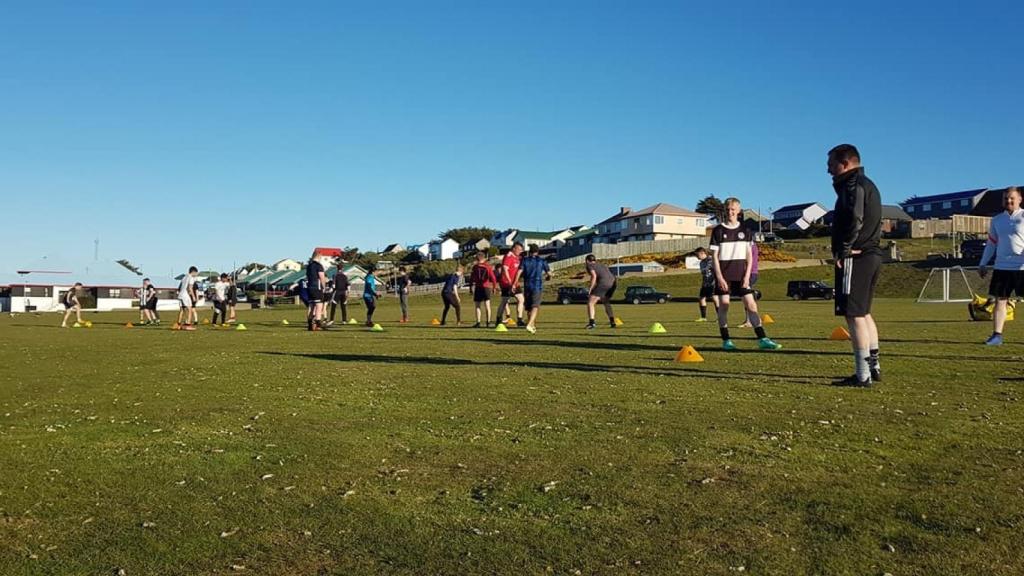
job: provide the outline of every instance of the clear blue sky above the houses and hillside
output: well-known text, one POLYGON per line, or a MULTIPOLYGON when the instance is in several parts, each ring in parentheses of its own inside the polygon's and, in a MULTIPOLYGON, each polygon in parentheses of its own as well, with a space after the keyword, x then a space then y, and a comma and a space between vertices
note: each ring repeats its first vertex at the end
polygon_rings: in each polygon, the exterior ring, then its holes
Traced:
POLYGON ((1022 29, 1009 1, 4 2, 0 270, 830 205, 841 141, 889 203, 1022 182, 1022 29))

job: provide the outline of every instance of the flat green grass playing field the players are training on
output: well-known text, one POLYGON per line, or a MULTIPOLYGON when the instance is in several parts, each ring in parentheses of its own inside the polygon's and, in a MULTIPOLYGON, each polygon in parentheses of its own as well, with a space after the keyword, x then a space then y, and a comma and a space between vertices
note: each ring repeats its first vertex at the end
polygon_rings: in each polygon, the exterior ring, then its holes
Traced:
POLYGON ((396 307, 378 334, 3 317, 0 574, 1022 572, 1013 323, 986 348, 962 305, 880 300, 862 390, 828 385, 827 302, 763 302, 785 348, 733 354, 690 303, 592 333, 550 304, 536 335, 396 307))

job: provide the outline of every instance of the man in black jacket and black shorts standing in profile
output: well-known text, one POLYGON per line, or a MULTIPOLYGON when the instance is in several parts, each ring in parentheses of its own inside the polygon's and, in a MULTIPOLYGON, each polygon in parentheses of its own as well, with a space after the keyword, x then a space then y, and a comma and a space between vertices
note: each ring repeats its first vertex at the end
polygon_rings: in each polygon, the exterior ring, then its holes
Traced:
POLYGON ((836 258, 836 316, 850 327, 856 373, 837 382, 867 387, 882 380, 879 329, 871 318, 874 285, 882 269, 882 196, 864 175, 860 153, 851 145, 828 151, 836 189, 831 250, 836 258))

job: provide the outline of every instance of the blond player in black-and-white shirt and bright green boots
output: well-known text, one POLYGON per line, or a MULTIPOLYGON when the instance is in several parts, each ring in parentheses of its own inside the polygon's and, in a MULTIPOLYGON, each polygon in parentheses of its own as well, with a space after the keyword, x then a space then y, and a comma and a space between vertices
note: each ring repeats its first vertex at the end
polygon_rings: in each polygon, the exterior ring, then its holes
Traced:
POLYGON ((711 253, 715 264, 716 294, 719 296, 718 329, 722 334, 722 348, 736 349, 736 344, 729 337, 729 298, 741 298, 746 317, 754 324, 754 332, 758 336, 758 347, 761 349, 779 349, 776 343, 765 334, 758 314, 758 302, 754 299, 751 289, 751 244, 753 235, 739 222, 739 200, 728 198, 725 201, 725 221, 715 227, 711 233, 711 253))

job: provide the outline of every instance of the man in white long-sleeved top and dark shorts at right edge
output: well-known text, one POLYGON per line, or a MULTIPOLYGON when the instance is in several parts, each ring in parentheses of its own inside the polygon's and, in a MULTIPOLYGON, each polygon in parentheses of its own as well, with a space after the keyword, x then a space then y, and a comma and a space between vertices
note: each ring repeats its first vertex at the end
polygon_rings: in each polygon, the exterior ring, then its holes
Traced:
POLYGON ((992 216, 988 224, 988 242, 978 264, 978 274, 988 275, 988 262, 995 257, 992 282, 988 293, 995 297, 992 312, 992 335, 985 344, 1002 343, 1002 325, 1007 321, 1007 300, 1012 294, 1024 296, 1024 210, 1021 209, 1021 191, 1013 187, 1002 195, 1006 211, 992 216))

